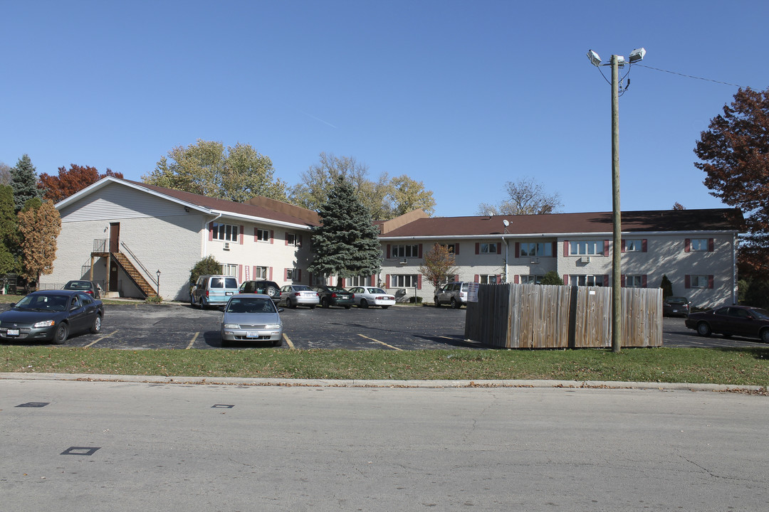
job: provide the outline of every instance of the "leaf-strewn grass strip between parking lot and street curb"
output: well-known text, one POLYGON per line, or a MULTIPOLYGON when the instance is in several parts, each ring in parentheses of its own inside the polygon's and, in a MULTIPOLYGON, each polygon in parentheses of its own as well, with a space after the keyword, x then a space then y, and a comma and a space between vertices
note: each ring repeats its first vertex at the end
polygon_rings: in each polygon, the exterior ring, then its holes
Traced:
POLYGON ((554 379, 769 385, 769 348, 115 350, 0 345, 0 372, 394 380, 554 379))

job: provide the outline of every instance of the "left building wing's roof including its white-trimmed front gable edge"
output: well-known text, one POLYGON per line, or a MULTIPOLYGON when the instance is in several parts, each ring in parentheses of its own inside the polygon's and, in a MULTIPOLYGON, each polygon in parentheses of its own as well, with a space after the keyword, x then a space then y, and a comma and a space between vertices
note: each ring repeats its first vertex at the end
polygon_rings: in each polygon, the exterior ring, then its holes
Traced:
POLYGON ((165 200, 170 200, 211 215, 218 215, 221 213, 225 216, 229 214, 231 216, 251 217, 254 219, 271 220, 276 223, 288 223, 308 227, 318 226, 320 224, 318 214, 312 210, 305 210, 299 206, 281 203, 280 201, 270 200, 266 197, 261 198, 264 201, 256 198, 255 203, 251 203, 251 201, 249 201, 249 203, 235 203, 234 201, 201 196, 196 193, 173 190, 165 187, 156 187, 155 185, 148 185, 147 183, 138 181, 121 180, 112 176, 102 178, 102 180, 98 180, 91 186, 56 203, 56 208, 61 210, 64 206, 72 204, 75 201, 82 199, 82 197, 95 193, 110 183, 119 183, 125 187, 141 190, 156 197, 162 197, 165 200))

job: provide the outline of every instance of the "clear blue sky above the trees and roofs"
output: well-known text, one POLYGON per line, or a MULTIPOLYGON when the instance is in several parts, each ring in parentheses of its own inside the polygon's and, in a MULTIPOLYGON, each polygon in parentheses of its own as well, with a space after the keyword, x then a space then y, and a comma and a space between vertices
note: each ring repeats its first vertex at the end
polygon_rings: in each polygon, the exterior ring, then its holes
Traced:
MULTIPOLYGON (((0 4, 0 162, 139 180, 198 139, 295 184, 321 151, 474 215, 534 177, 611 211, 611 87, 586 57, 643 46, 620 98, 623 210, 721 207, 693 149, 737 87, 769 86, 769 2, 0 4), (685 78, 680 74, 713 81, 685 78)), ((610 69, 602 68, 607 78, 610 69)))

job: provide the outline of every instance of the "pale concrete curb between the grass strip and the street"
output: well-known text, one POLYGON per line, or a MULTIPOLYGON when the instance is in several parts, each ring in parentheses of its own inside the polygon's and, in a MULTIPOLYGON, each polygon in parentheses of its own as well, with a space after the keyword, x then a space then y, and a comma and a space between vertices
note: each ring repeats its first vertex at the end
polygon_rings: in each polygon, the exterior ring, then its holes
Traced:
POLYGON ((297 386, 313 388, 564 388, 564 389, 644 389, 660 391, 718 391, 767 394, 756 385, 697 384, 687 382, 612 382, 555 380, 353 380, 240 377, 166 377, 164 375, 94 375, 69 373, 0 373, 0 380, 48 380, 80 382, 137 382, 151 384, 197 384, 241 386, 297 386))

